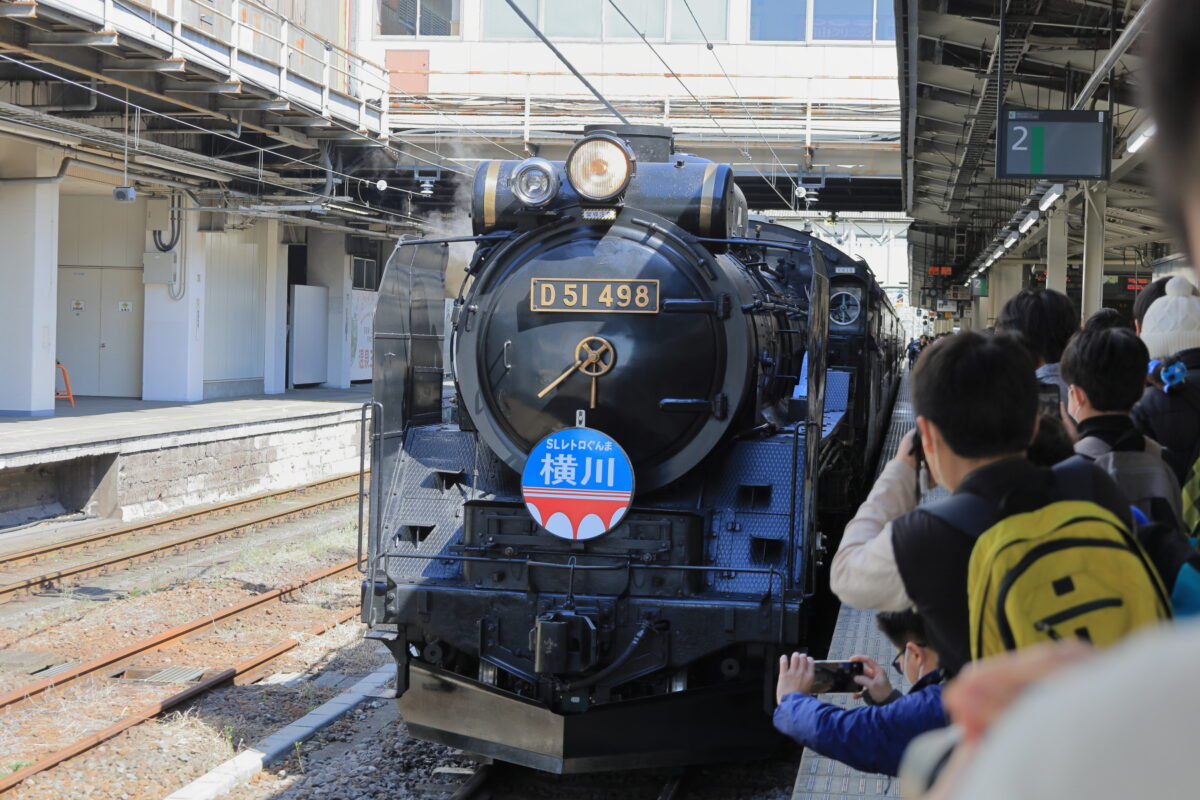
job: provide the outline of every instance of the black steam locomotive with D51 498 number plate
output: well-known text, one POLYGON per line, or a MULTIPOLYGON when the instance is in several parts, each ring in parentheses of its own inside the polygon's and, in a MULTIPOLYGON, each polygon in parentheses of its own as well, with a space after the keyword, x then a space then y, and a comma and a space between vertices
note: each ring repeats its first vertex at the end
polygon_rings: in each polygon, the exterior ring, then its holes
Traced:
MULTIPOLYGON (((824 409, 828 257, 748 236, 732 169, 658 127, 485 163, 472 218, 445 353, 448 240, 401 242, 376 314, 362 613, 409 730, 557 772, 761 754, 844 416, 824 409), (529 453, 576 427, 636 480, 602 535, 527 497, 529 453)), ((587 463, 542 491, 604 494, 587 463)))

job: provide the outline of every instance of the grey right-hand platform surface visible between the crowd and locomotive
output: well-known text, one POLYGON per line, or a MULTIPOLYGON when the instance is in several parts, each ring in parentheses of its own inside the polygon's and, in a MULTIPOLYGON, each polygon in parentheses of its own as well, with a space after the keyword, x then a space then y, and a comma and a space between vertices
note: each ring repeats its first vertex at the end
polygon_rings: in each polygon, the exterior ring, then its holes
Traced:
MULTIPOLYGON (((888 434, 880 452, 880 462, 875 469, 876 475, 895 456, 900 440, 916 425, 916 414, 912 410, 910 395, 910 372, 905 372, 896 392, 892 422, 888 426, 888 434)), ((934 489, 923 498, 923 503, 931 503, 943 497, 946 497, 944 489, 934 489)), ((845 660, 852 655, 870 656, 881 664, 888 664, 895 656, 895 648, 875 625, 875 612, 842 606, 838 614, 833 639, 829 642, 829 658, 845 660)), ((890 668, 888 670, 888 678, 893 685, 901 692, 907 692, 908 682, 896 675, 895 670, 890 668)), ((863 702, 856 700, 852 694, 822 694, 821 699, 842 708, 863 705, 863 702)), ((805 750, 800 758, 800 768, 792 789, 792 800, 847 800, 850 798, 863 800, 864 798, 899 796, 900 782, 896 778, 859 772, 841 762, 818 756, 811 750, 805 750)))

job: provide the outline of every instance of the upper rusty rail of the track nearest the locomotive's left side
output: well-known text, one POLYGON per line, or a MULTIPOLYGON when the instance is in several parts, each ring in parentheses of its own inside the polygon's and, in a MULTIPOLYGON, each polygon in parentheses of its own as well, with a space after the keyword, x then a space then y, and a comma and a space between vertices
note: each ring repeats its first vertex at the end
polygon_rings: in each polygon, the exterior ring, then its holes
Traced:
POLYGON ((331 567, 314 572, 305 578, 294 581, 287 585, 280 587, 271 591, 263 593, 260 595, 254 595, 240 603, 234 603, 233 606, 227 606, 212 614, 206 614, 199 619, 194 619, 190 622, 184 622, 182 625, 176 625, 175 627, 163 631, 156 636, 152 636, 142 642, 136 642, 127 648, 121 648, 120 650, 114 650, 107 652, 97 658, 92 658, 86 663, 82 663, 78 667, 68 669, 58 675, 52 675, 49 678, 43 678, 42 680, 26 684, 14 688, 13 691, 0 694, 0 709, 6 709, 11 705, 16 705, 24 700, 37 697, 42 692, 50 688, 61 687, 72 681, 76 681, 86 675, 94 675, 103 670, 115 670, 121 664, 131 661, 132 658, 145 655, 148 652, 154 652, 155 650, 161 650, 170 644, 174 644, 181 639, 187 638, 194 633, 202 632, 204 628, 216 625, 217 622, 228 620, 233 616, 244 614, 251 609, 258 608, 259 606, 265 606, 268 603, 282 600, 284 596, 302 589, 305 587, 312 585, 318 581, 324 581, 325 578, 334 577, 342 572, 349 572, 358 566, 356 559, 350 559, 349 561, 342 561, 341 564, 335 564, 331 567))

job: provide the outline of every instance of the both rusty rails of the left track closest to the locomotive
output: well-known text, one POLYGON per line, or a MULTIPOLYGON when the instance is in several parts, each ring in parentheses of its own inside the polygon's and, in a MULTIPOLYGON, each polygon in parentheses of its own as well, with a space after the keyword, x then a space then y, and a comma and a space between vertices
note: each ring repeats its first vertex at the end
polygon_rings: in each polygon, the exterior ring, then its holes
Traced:
MULTIPOLYGON (((36 680, 25 686, 22 686, 14 691, 11 691, 4 696, 0 696, 0 710, 8 709, 12 706, 20 705, 23 703, 31 702, 34 698, 44 694, 50 690, 61 690, 77 681, 80 681, 88 676, 115 676, 119 675, 124 669, 133 663, 139 656, 145 656, 146 654, 161 650, 163 648, 178 644, 184 639, 204 633, 212 628, 214 625, 222 621, 228 621, 234 618, 248 614, 251 612, 262 609, 271 603, 283 602, 294 593, 300 589, 312 587, 313 584, 328 581, 330 578, 336 578, 343 576, 348 572, 354 571, 358 567, 358 559, 352 559, 349 561, 343 561, 341 564, 334 565, 329 569, 322 570, 313 575, 310 575, 300 581, 289 583, 278 589, 274 589, 262 595, 256 595, 244 602, 229 606, 212 614, 206 614, 203 618, 194 619, 190 622, 178 625, 168 631, 158 633, 156 636, 149 637, 132 644, 127 648, 115 650, 89 662, 82 663, 70 670, 64 673, 44 678, 42 680, 36 680)), ((4 794, 18 786, 29 777, 37 775, 44 770, 48 770, 62 762, 66 762, 88 750, 100 745, 101 742, 112 739, 122 730, 127 730, 133 726, 150 720, 168 709, 180 705, 187 700, 194 699, 205 692, 209 692, 218 686, 228 682, 236 684, 250 684, 259 678, 264 676, 271 667, 271 663, 296 648, 305 638, 310 636, 318 636, 325 631, 346 622, 359 614, 359 607, 343 609, 338 612, 334 618, 326 619, 316 624, 299 633, 294 633, 282 640, 276 642, 270 648, 262 650, 250 658, 239 661, 227 668, 208 670, 206 674, 196 684, 187 686, 186 688, 175 692, 174 694, 158 700, 156 703, 145 705, 137 709, 132 714, 122 716, 120 720, 113 724, 89 733, 88 735, 52 752, 48 753, 32 764, 24 766, 5 777, 0 778, 0 794, 4 794)))

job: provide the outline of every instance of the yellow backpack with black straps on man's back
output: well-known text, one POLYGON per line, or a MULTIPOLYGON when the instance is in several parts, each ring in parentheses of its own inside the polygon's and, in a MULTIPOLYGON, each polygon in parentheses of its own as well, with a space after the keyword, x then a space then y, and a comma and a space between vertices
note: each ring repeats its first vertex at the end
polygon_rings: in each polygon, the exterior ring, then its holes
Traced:
POLYGON ((1070 637, 1104 646, 1170 619, 1141 545, 1091 499, 1092 469, 1080 458, 1058 464, 1061 499, 998 521, 973 494, 924 509, 977 537, 967 571, 972 658, 1070 637))

